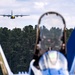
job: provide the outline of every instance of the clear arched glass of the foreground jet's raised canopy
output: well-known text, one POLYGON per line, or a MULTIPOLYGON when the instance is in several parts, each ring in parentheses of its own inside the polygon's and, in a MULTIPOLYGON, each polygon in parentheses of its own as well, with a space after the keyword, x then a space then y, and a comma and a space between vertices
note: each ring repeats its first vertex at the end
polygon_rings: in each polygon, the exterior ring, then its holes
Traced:
POLYGON ((57 13, 45 13, 39 20, 41 50, 60 50, 64 21, 57 13))

